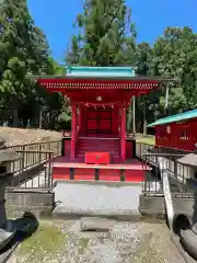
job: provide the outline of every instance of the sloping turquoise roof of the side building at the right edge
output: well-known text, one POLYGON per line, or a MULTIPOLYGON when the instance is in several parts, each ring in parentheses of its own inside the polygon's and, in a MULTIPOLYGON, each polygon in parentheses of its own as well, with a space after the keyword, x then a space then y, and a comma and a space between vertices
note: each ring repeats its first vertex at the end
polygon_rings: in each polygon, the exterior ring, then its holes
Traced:
POLYGON ((172 115, 164 118, 159 118, 154 123, 149 124, 147 127, 155 127, 159 125, 165 125, 170 123, 178 123, 178 122, 187 121, 195 117, 197 117, 197 110, 179 113, 179 114, 172 115))

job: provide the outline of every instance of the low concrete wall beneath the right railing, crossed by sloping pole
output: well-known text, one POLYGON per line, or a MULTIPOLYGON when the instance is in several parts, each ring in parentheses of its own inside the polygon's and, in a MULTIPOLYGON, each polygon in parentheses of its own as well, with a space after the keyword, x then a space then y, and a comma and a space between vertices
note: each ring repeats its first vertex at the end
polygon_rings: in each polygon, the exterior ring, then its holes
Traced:
MULTIPOLYGON (((172 199, 175 215, 184 214, 188 218, 193 217, 194 198, 172 197, 172 199)), ((139 210, 143 216, 161 217, 165 215, 164 198, 140 195, 139 210)))

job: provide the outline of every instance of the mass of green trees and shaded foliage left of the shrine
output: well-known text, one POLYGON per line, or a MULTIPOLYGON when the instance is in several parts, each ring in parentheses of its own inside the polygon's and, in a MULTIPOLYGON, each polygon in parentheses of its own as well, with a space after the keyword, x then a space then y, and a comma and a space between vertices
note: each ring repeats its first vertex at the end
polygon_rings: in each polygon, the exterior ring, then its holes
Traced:
MULTIPOLYGON (((35 26, 25 0, 4 0, 0 5, 0 103, 1 117, 10 108, 32 118, 44 107, 45 115, 60 112, 62 98, 48 94, 28 75, 65 75, 65 68, 49 57, 49 47, 35 26)), ((14 114, 13 114, 14 115, 14 114)), ((14 116, 18 125, 18 114, 14 116)))

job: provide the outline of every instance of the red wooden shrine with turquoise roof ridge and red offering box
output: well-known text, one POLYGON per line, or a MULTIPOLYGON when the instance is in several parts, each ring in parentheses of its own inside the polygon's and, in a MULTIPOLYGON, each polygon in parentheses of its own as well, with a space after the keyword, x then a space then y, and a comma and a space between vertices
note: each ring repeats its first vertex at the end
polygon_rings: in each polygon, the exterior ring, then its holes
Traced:
POLYGON ((136 172, 138 168, 141 171, 135 159, 135 139, 127 138, 127 108, 132 96, 148 94, 170 81, 138 77, 131 67, 67 67, 65 77, 39 77, 42 87, 67 95, 72 107, 71 138, 62 139, 62 157, 55 161, 54 174, 66 178, 73 169, 81 169, 79 175, 94 176, 94 170, 100 169, 101 179, 106 170, 118 178, 119 170, 131 174, 132 165, 136 172))

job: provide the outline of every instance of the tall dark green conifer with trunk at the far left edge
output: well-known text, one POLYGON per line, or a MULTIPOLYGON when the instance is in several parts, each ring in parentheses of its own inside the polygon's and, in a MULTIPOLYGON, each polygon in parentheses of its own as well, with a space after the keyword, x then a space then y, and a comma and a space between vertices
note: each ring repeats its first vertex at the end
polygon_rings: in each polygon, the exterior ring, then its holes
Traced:
MULTIPOLYGON (((13 125, 18 110, 32 95, 34 83, 27 73, 38 75, 48 60, 43 32, 34 25, 25 0, 4 0, 0 5, 0 98, 13 106, 13 125)), ((8 108, 9 110, 9 108, 8 108)))

